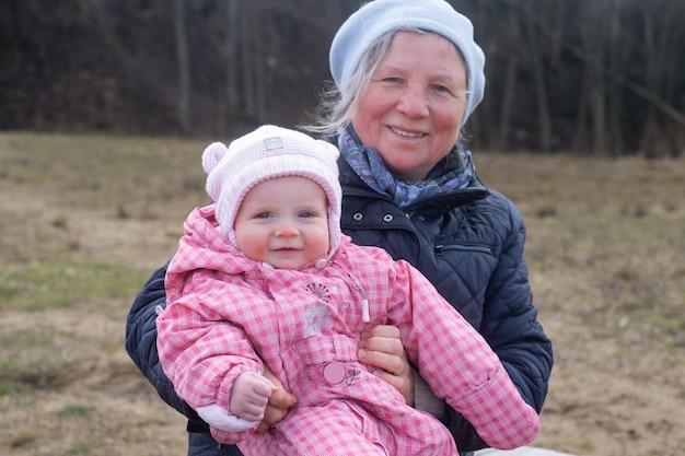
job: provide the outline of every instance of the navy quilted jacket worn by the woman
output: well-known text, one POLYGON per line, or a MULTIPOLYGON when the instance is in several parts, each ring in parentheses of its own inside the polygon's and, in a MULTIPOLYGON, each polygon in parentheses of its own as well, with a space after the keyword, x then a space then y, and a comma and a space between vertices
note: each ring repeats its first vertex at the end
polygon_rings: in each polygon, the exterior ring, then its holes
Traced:
MULTIPOLYGON (((406 210, 367 187, 345 160, 342 231, 355 243, 387 250, 417 267, 476 327, 501 359, 522 396, 538 412, 547 394, 552 343, 537 323, 523 259, 525 227, 513 203, 478 178, 469 187, 406 210)), ((186 414, 189 431, 208 431, 175 395, 156 353, 156 305, 165 305, 164 272, 154 272, 131 307, 126 349, 160 396, 186 414)), ((461 451, 485 443, 473 426, 448 408, 443 422, 461 451)))

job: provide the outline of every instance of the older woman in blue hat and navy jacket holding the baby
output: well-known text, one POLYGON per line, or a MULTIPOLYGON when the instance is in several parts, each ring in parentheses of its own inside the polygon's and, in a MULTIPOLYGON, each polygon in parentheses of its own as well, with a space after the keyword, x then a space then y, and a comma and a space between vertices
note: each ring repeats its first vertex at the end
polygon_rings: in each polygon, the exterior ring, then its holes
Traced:
MULTIPOLYGON (((532 304, 523 221, 510 200, 480 183, 460 140, 483 98, 484 65, 471 22, 448 2, 372 1, 334 38, 338 93, 312 129, 340 149, 342 231, 416 266, 485 337, 539 412, 553 355, 532 304)), ((164 303, 164 271, 133 303, 127 350, 164 400, 189 417, 188 455, 237 455, 217 447, 159 366, 154 307, 164 303)), ((413 371, 396 328, 375 327, 362 338, 359 360, 378 367, 408 405, 439 417, 461 451, 486 446, 413 371)), ((263 428, 278 422, 292 400, 282 389, 275 394, 263 428)))

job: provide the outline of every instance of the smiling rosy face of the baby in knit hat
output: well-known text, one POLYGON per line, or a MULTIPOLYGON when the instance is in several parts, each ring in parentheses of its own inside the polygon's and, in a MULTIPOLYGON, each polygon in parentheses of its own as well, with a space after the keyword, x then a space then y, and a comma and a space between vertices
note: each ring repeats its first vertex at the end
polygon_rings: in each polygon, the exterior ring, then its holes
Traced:
POLYGON ((243 199, 234 229, 246 257, 277 269, 299 269, 328 253, 326 194, 305 177, 265 180, 243 199))

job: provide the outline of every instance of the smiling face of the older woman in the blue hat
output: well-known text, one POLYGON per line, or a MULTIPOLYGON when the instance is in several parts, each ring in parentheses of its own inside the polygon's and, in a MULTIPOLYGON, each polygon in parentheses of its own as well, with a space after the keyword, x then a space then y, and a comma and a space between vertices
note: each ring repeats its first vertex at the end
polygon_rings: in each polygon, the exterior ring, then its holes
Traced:
POLYGON ((466 107, 466 69, 452 42, 399 32, 352 119, 359 139, 400 179, 421 180, 452 149, 466 107))

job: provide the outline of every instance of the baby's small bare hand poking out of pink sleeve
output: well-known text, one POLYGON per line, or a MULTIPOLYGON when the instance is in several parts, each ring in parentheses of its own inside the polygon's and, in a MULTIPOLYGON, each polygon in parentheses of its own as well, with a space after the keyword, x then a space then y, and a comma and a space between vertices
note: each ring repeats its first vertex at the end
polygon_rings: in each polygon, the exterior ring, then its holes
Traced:
POLYGON ((243 372, 233 382, 229 406, 231 413, 247 420, 259 422, 269 397, 278 388, 266 377, 256 372, 243 372))

